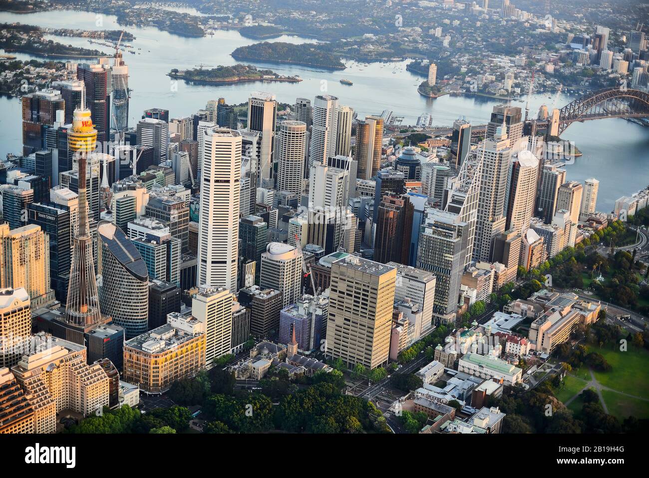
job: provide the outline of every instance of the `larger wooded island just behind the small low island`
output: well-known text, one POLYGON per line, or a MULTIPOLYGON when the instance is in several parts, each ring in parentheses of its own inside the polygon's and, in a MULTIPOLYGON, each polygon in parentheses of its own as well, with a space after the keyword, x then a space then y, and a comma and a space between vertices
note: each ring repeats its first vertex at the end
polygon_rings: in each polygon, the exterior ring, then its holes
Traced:
POLYGON ((238 47, 232 52, 235 60, 288 63, 324 69, 345 69, 339 57, 313 44, 294 45, 284 42, 261 42, 238 47))

